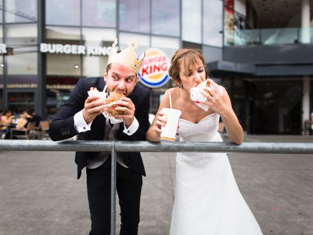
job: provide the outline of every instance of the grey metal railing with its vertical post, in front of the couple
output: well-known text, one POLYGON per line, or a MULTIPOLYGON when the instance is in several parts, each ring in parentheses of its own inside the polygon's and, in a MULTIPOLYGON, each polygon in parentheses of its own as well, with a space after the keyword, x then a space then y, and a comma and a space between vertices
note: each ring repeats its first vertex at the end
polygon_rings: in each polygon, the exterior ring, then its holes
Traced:
POLYGON ((116 228, 116 152, 226 152, 313 154, 313 143, 243 142, 149 142, 149 141, 21 141, 1 140, 0 151, 112 151, 111 235, 116 228))

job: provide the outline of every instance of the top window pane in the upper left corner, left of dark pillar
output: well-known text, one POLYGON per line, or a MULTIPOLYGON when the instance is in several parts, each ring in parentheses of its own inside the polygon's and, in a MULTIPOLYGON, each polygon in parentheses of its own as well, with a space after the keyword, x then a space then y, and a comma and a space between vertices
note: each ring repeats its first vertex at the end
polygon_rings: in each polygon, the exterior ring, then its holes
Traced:
POLYGON ((5 0, 4 6, 4 17, 7 23, 37 21, 37 0, 5 0))

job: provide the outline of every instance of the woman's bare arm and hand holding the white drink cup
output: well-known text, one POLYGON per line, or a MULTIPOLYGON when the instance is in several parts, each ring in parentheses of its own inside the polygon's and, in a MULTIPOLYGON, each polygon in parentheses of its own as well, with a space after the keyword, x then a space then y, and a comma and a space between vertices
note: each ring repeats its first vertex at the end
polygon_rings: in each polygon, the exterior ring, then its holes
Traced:
POLYGON ((163 112, 161 111, 163 108, 167 108, 170 103, 169 90, 165 92, 160 102, 160 106, 158 107, 156 117, 153 119, 153 122, 146 133, 147 141, 158 142, 160 141, 161 134, 161 126, 164 126, 164 119, 162 118, 163 112))

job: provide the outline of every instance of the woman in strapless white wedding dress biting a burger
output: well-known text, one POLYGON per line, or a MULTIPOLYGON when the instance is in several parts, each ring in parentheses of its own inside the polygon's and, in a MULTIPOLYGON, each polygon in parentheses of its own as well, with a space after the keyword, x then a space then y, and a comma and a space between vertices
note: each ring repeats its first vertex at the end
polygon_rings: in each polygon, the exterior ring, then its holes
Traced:
MULTIPOLYGON (((208 77, 201 51, 179 49, 172 58, 170 76, 178 87, 165 92, 149 128, 148 141, 160 141, 164 126, 162 108, 172 107, 182 114, 178 133, 180 141, 222 141, 218 133, 221 117, 228 137, 236 144, 244 139, 224 87, 210 80, 204 88, 212 96, 201 102, 207 112, 190 99, 190 89, 208 77)), ((262 235, 234 179, 225 153, 180 152, 176 156, 176 190, 170 235, 262 235)))

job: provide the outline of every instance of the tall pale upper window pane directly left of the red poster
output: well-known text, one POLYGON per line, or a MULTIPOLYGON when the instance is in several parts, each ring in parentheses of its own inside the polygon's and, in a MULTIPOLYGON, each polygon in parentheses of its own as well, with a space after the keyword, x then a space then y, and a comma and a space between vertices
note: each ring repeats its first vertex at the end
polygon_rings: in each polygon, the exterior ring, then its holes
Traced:
POLYGON ((203 1, 203 44, 223 46, 223 2, 203 1))

